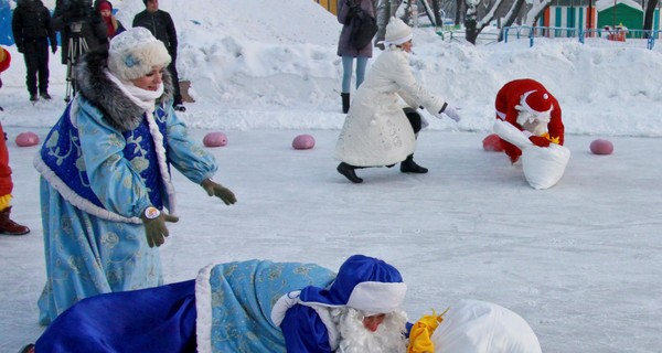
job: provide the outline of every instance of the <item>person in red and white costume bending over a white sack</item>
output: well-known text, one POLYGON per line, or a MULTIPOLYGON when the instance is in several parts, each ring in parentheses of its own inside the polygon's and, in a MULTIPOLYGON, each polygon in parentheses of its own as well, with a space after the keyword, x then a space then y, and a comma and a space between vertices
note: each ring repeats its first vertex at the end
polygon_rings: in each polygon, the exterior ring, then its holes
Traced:
MULTIPOLYGON (((538 147, 564 143, 564 126, 558 100, 537 81, 514 79, 501 87, 494 103, 496 119, 508 121, 524 131, 538 147)), ((520 160, 522 150, 501 139, 511 162, 520 160)))

